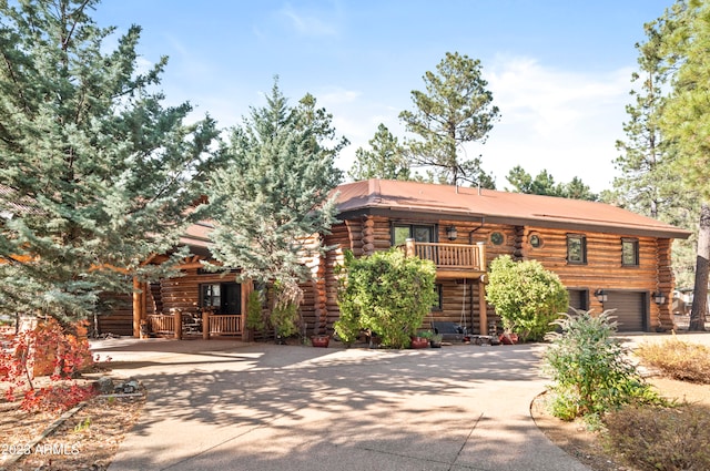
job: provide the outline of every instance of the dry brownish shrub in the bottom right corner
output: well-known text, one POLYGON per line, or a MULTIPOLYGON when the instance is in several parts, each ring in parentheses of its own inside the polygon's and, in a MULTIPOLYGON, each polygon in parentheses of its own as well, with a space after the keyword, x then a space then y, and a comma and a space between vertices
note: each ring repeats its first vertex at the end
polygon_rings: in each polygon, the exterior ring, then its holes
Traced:
POLYGON ((608 413, 606 448, 633 469, 710 470, 710 410, 628 406, 608 413))

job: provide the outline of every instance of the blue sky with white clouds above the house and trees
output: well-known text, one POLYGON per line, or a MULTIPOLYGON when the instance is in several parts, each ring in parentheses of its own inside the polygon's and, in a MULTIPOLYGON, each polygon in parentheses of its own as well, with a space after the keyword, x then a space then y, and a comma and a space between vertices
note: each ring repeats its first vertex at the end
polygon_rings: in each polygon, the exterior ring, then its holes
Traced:
MULTIPOLYGON (((578 176, 611 188, 616 141, 637 70, 643 24, 672 0, 103 0, 94 20, 125 32, 139 24, 141 64, 168 55, 165 104, 190 101, 220 127, 265 105, 274 78, 291 104, 306 93, 351 141, 351 168, 384 123, 399 140, 413 90, 446 52, 481 63, 500 117, 480 156, 498 190, 520 165, 558 183, 578 176)), ((409 137, 412 137, 409 135, 409 137)))

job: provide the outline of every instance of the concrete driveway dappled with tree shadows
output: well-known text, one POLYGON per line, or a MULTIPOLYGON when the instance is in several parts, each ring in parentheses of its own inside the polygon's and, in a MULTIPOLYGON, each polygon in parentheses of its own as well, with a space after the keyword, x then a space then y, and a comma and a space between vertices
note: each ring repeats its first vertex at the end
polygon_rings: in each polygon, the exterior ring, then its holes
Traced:
POLYGON ((149 390, 110 470, 587 470, 530 418, 542 348, 97 341, 149 390))

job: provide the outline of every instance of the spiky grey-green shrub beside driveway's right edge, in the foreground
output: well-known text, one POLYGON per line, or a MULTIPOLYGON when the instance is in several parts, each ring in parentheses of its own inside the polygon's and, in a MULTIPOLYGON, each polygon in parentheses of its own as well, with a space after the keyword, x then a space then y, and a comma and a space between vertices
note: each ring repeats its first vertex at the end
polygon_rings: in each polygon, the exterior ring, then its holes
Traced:
POLYGON ((599 416, 630 402, 661 403, 626 358, 627 349, 615 339, 611 311, 599 316, 578 310, 555 324, 561 334, 551 332, 544 355, 544 371, 554 383, 552 413, 564 420, 599 416))

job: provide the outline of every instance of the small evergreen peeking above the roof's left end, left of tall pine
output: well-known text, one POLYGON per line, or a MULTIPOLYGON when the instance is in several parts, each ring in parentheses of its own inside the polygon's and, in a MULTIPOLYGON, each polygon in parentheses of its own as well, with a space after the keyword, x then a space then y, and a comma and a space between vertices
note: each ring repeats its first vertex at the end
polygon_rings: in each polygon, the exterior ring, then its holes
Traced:
POLYGON ((369 146, 372 151, 363 147, 355 151, 355 163, 348 172, 351 178, 410 180, 409 164, 404 157, 399 141, 387 126, 382 123, 377 126, 369 146))

